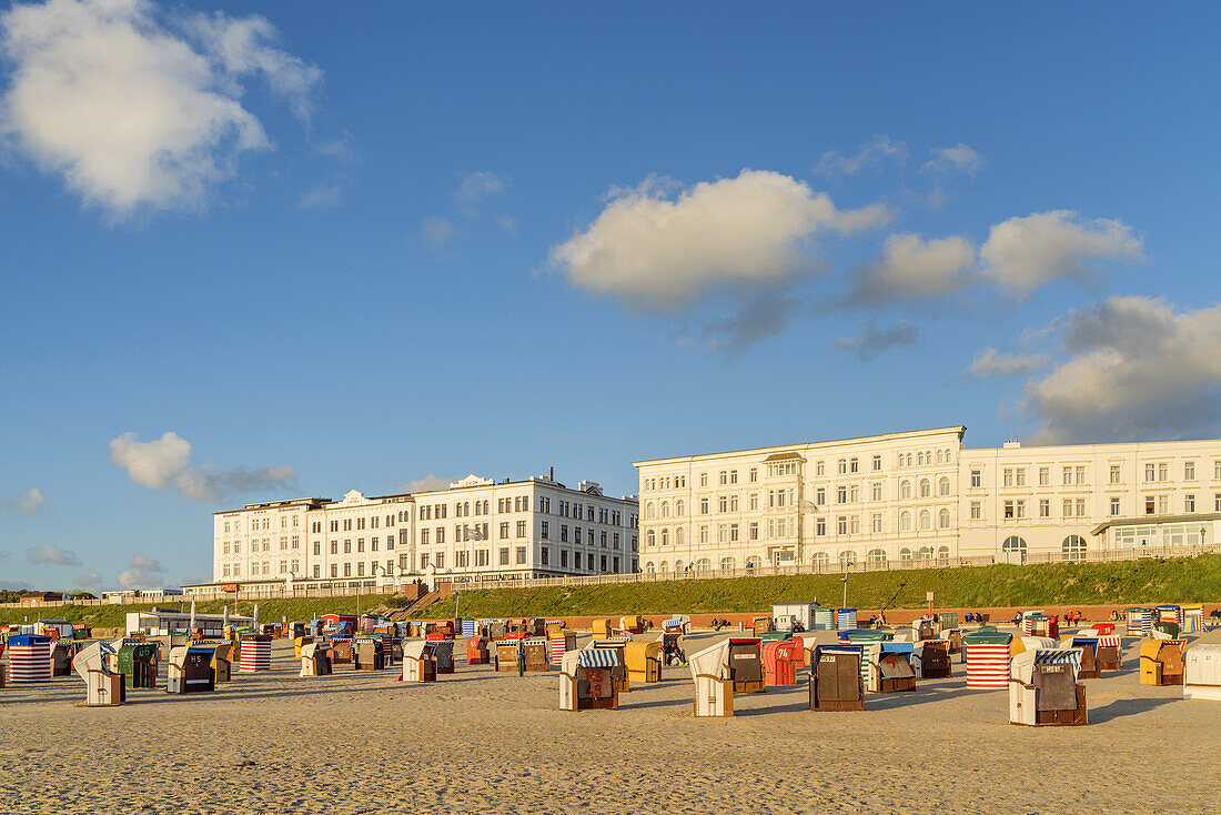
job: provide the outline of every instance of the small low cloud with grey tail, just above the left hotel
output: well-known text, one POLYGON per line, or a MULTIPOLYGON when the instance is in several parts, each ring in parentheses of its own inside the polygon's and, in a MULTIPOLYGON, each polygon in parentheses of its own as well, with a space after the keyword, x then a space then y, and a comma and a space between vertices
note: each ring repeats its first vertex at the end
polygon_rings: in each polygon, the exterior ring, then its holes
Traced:
POLYGON ((127 477, 154 490, 175 488, 197 501, 219 501, 233 492, 284 488, 297 480, 292 467, 249 469, 220 468, 211 462, 190 464, 190 442, 173 431, 155 441, 140 441, 125 433, 110 442, 110 458, 127 470, 127 477))

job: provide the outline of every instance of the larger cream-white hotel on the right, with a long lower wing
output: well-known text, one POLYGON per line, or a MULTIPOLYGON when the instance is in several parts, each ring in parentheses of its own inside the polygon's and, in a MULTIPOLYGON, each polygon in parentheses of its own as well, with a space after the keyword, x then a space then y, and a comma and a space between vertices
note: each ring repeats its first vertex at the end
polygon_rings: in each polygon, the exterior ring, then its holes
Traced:
POLYGON ((965 433, 636 462, 641 569, 1024 562, 1221 540, 1221 441, 966 450, 965 433))

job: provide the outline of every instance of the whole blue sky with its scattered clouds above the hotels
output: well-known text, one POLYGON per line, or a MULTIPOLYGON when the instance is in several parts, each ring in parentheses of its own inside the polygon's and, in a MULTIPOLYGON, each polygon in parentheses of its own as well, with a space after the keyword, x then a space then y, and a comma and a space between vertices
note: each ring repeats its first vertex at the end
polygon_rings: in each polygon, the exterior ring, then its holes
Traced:
POLYGON ((2 584, 429 475, 1219 430, 1214 5, 260 15, 0 18, 2 584))

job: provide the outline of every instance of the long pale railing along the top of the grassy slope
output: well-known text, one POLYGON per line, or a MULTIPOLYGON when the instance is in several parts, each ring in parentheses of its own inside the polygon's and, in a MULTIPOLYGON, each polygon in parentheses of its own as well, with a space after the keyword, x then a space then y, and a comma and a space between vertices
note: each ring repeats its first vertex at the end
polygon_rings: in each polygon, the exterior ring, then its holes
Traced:
MULTIPOLYGON (((495 578, 485 579, 477 576, 454 579, 452 585, 455 590, 465 591, 470 589, 536 589, 545 587, 574 587, 574 585, 608 585, 618 583, 661 583, 663 580, 711 580, 730 579, 741 577, 778 577, 796 574, 862 574, 868 572, 895 572, 905 569, 949 568, 949 567, 978 567, 993 566, 995 563, 1024 563, 1027 566, 1037 563, 1107 563, 1115 561, 1134 561, 1164 557, 1194 557, 1221 552, 1221 544, 1204 544, 1198 546, 1149 546, 1138 549, 1116 549, 1103 551, 1085 551, 1070 555, 1062 552, 999 552, 996 555, 984 555, 978 557, 940 557, 900 561, 857 561, 847 567, 840 563, 794 563, 792 566, 764 566, 759 568, 731 568, 731 569, 696 569, 687 567, 683 572, 657 572, 636 574, 590 574, 574 577, 548 577, 548 578, 495 578)), ((447 582, 443 576, 437 576, 440 582, 447 582)), ((381 584, 376 587, 363 587, 360 594, 391 594, 397 591, 400 584, 381 584)), ((352 587, 337 584, 303 585, 286 589, 283 585, 254 585, 242 587, 238 591, 208 591, 192 589, 192 594, 167 594, 140 598, 115 598, 107 600, 63 600, 61 602, 0 604, 4 609, 48 609, 62 605, 77 606, 103 606, 103 605, 131 605, 131 604, 156 604, 156 602, 187 602, 190 600, 263 600, 263 599, 288 599, 288 598, 338 598, 355 594, 352 587)))

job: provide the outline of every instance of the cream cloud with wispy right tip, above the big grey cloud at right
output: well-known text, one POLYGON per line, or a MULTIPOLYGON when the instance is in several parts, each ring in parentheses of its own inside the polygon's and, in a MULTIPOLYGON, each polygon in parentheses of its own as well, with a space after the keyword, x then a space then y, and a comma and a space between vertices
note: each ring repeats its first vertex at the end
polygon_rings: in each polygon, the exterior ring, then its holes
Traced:
POLYGON ((1011 217, 991 227, 979 249, 984 274, 1018 294, 1063 277, 1088 277, 1101 260, 1144 258, 1140 238, 1122 221, 1083 220, 1071 210, 1011 217))

